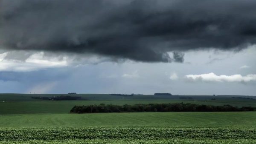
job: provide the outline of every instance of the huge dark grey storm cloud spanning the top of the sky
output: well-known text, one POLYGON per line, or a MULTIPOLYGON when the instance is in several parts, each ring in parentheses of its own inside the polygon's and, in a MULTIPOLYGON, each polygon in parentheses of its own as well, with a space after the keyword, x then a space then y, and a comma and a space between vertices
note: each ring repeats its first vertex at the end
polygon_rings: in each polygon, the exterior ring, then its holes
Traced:
POLYGON ((0 0, 0 45, 182 62, 186 50, 254 44, 255 6, 255 0, 0 0))

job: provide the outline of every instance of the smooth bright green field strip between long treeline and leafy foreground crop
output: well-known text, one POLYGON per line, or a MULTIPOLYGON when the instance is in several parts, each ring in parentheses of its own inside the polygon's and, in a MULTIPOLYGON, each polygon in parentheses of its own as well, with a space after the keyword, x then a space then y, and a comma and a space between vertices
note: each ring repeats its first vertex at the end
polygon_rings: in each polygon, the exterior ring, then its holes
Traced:
POLYGON ((1 115, 0 127, 256 127, 256 112, 134 112, 1 115))

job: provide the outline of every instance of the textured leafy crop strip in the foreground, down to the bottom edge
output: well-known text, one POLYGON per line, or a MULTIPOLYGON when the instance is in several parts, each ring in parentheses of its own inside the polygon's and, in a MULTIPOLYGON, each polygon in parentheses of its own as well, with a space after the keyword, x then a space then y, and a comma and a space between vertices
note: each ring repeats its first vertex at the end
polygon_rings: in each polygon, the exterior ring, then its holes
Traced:
POLYGON ((0 129, 2 143, 255 143, 256 129, 88 127, 0 129))

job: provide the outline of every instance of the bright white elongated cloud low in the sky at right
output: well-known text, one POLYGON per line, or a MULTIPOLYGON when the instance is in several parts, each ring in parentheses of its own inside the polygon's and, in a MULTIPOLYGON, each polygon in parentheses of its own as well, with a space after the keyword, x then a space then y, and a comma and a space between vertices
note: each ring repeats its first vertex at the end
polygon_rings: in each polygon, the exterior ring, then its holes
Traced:
POLYGON ((250 82, 256 81, 256 75, 215 75, 213 72, 202 75, 185 75, 191 81, 215 81, 215 82, 250 82))

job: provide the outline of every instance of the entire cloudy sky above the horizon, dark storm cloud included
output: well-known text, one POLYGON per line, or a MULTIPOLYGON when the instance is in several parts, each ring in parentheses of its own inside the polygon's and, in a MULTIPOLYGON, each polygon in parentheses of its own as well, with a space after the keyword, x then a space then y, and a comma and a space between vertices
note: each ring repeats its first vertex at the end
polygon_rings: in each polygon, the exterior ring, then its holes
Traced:
POLYGON ((256 95, 255 0, 0 0, 0 93, 256 95))

